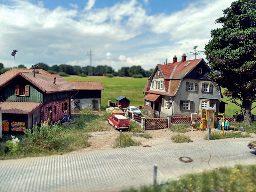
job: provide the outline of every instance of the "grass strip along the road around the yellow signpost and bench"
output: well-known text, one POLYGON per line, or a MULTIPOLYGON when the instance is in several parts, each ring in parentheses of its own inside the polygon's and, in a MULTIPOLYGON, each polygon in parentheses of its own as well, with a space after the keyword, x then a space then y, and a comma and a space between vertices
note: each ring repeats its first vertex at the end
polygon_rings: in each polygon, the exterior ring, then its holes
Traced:
MULTIPOLYGON (((234 138, 234 137, 250 137, 250 133, 242 133, 238 131, 229 131, 224 132, 224 136, 222 136, 222 132, 212 132, 210 136, 210 140, 216 140, 216 139, 228 139, 228 138, 234 138)), ((208 135, 204 136, 204 139, 208 139, 208 135)))

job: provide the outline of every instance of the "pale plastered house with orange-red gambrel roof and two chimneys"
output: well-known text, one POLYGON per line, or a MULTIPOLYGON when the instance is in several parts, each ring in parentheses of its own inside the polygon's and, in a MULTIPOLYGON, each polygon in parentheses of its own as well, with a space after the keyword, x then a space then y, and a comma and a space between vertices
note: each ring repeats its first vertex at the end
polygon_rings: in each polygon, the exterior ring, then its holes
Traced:
POLYGON ((202 107, 212 107, 216 113, 224 113, 220 86, 209 78, 209 66, 204 59, 186 60, 186 57, 184 53, 177 62, 175 55, 172 63, 156 66, 142 90, 145 115, 201 115, 202 107))

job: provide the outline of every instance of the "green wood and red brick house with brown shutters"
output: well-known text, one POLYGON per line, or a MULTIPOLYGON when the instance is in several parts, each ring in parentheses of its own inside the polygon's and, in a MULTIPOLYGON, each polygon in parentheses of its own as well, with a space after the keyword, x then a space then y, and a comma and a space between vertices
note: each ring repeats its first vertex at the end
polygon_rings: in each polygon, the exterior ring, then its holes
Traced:
POLYGON ((24 131, 41 121, 56 122, 71 113, 76 87, 43 69, 12 68, 0 75, 3 131, 24 131))

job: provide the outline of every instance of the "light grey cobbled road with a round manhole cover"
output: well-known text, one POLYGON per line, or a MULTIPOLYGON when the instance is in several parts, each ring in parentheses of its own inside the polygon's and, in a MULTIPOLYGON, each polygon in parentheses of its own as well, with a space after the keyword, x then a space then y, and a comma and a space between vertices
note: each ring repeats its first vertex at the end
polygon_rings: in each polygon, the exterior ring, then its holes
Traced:
POLYGON ((119 191, 152 184, 154 165, 161 182, 220 166, 256 164, 256 153, 247 147, 252 140, 203 140, 1 160, 0 191, 119 191), (181 156, 193 161, 181 162, 181 156))

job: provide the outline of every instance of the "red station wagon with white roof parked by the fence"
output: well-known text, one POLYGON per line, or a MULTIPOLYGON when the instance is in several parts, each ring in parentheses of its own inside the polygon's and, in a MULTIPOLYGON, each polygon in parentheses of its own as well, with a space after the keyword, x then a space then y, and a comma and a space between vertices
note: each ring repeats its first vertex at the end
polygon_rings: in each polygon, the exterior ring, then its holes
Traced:
POLYGON ((112 117, 108 116, 108 124, 112 125, 115 130, 117 129, 130 129, 128 119, 123 115, 115 115, 112 117))

